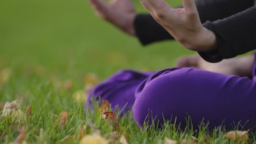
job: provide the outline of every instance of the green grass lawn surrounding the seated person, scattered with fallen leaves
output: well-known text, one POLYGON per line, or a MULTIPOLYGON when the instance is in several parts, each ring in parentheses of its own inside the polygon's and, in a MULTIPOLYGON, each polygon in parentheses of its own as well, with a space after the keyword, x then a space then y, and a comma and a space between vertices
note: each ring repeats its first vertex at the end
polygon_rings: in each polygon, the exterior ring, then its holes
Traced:
MULTIPOLYGON (((134 3, 138 12, 145 12, 138 1, 134 3)), ((168 3, 179 5, 181 0, 168 3)), ((84 89, 85 75, 93 73, 104 80, 120 69, 160 70, 192 53, 175 41, 143 47, 135 37, 96 18, 86 0, 2 0, 0 18, 0 105, 22 101, 21 117, 0 117, 0 143, 15 141, 22 128, 27 143, 79 143, 84 127, 84 135, 100 130, 108 139, 113 131, 108 122, 99 112, 85 112, 84 101, 74 98, 84 89), (24 120, 29 107, 32 115, 24 120), (69 113, 65 126, 54 125, 63 111, 69 113)), ((181 141, 192 136, 198 143, 205 143, 205 137, 210 143, 235 143, 224 137, 222 129, 181 131, 166 123, 164 129, 143 131, 132 113, 118 117, 118 122, 129 143, 158 144, 165 137, 181 141)), ((249 137, 249 142, 255 141, 252 132, 249 137)))

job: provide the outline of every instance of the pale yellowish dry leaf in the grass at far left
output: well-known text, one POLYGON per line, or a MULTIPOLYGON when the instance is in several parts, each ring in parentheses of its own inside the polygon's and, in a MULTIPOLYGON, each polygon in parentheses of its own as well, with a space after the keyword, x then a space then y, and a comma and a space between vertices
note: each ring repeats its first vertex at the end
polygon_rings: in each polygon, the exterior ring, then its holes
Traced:
POLYGON ((20 104, 18 103, 18 100, 9 102, 7 101, 3 107, 2 116, 7 117, 20 117, 22 115, 21 110, 19 109, 20 104))

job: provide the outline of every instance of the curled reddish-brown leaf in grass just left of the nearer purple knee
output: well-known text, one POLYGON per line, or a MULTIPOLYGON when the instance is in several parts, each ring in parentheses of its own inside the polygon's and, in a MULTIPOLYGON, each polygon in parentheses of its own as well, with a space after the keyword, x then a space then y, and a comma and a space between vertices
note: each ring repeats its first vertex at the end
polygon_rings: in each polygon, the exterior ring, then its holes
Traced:
POLYGON ((115 115, 113 112, 104 112, 102 117, 109 121, 109 126, 113 131, 117 131, 120 133, 120 125, 117 121, 117 115, 115 115))

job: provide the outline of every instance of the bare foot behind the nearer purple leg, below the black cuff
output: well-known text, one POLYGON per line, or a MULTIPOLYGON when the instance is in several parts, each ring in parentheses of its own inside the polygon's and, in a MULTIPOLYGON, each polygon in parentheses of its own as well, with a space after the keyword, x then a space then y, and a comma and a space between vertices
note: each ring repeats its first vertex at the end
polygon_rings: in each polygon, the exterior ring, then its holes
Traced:
POLYGON ((198 54, 182 56, 176 61, 176 67, 196 67, 210 72, 225 75, 238 75, 240 77, 251 77, 255 56, 248 55, 232 59, 224 59, 219 63, 209 63, 198 54))

